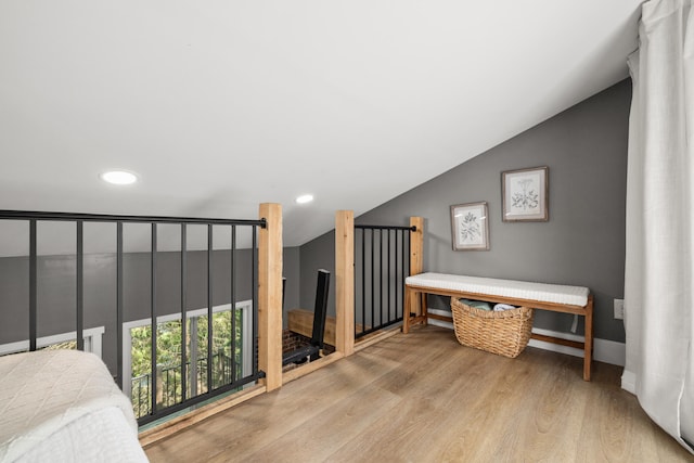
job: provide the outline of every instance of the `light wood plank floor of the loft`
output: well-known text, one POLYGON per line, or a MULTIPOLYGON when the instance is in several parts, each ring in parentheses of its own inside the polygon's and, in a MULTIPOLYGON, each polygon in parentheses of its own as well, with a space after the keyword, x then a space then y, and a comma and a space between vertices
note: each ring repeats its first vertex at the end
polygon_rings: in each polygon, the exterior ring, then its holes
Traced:
POLYGON ((621 368, 398 334, 146 448, 152 462, 684 462, 621 368))

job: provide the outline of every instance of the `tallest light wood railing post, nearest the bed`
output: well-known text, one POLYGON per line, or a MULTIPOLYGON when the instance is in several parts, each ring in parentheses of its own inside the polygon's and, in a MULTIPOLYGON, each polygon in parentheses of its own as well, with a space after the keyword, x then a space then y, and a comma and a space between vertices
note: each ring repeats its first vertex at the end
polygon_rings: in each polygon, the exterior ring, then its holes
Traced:
POLYGON ((282 206, 264 203, 258 232, 258 369, 266 390, 282 386, 282 206))

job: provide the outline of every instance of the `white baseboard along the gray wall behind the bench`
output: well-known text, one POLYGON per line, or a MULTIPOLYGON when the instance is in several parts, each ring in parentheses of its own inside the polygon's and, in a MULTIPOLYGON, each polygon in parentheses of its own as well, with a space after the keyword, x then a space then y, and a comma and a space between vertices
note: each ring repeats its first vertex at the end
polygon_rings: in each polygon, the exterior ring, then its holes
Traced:
MULTIPOLYGON (((450 317, 451 312, 440 309, 428 309, 429 313, 450 317)), ((428 323, 435 326, 441 326, 452 330, 453 324, 440 320, 429 319, 428 323)), ((582 343, 584 337, 571 333, 562 333, 551 330, 543 330, 534 327, 532 333, 542 334, 544 336, 558 337, 562 339, 569 339, 582 343)), ((528 346, 537 347, 538 349, 551 350, 553 352, 567 353, 569 356, 583 358, 583 351, 574 347, 562 346, 560 344, 545 343, 543 340, 530 339, 528 346)), ((599 362, 611 363, 613 365, 625 365, 626 360, 626 345, 624 343, 617 343, 609 339, 593 338, 593 359, 599 362)), ((624 376, 622 376, 624 387, 624 376)), ((627 389, 629 390, 629 389, 627 389)))

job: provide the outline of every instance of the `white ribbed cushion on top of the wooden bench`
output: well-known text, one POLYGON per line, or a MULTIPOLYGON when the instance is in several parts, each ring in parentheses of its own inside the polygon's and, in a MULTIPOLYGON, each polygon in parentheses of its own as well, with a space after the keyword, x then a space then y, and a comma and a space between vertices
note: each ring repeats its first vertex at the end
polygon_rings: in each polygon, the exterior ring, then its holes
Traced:
POLYGON ((487 294, 514 299, 538 300, 583 307, 590 290, 584 286, 532 283, 517 280, 500 280, 483 276, 464 276, 447 273, 420 273, 404 280, 408 286, 432 287, 463 293, 487 294))

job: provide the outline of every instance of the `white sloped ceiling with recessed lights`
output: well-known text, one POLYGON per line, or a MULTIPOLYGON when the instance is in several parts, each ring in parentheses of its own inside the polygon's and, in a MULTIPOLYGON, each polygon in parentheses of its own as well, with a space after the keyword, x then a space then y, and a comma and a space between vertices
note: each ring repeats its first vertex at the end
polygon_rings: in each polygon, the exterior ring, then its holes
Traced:
POLYGON ((281 203, 300 245, 627 77, 640 3, 3 0, 0 209, 281 203))

